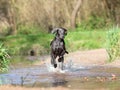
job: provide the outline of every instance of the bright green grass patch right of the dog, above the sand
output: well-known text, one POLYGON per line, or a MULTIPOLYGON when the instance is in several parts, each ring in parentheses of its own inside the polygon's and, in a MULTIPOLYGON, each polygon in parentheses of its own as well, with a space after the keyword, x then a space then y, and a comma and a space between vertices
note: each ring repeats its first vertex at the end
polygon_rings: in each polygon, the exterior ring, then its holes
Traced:
POLYGON ((73 31, 66 37, 69 51, 103 48, 106 31, 73 31))

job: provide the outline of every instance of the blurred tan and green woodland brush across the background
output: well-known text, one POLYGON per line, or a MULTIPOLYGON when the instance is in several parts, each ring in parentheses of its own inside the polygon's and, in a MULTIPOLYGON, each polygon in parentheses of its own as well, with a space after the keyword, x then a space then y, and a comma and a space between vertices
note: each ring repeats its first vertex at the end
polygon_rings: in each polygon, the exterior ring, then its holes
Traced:
MULTIPOLYGON (((79 0, 0 0, 0 32, 5 34, 31 33, 32 29, 19 25, 38 25, 48 30, 52 27, 71 27, 71 13, 79 0), (3 31, 3 28, 8 29, 3 31), (20 30, 19 27, 23 30, 20 30), (15 30, 13 30, 15 29, 15 30), (18 30, 19 29, 19 30, 18 30), (18 30, 18 31, 17 31, 18 30)), ((76 24, 85 29, 104 27, 109 22, 120 24, 120 0, 84 0, 79 8, 76 24), (111 7, 112 6, 112 7, 111 7), (111 8, 109 8, 111 7, 111 8), (84 22, 85 21, 85 22, 84 22)))

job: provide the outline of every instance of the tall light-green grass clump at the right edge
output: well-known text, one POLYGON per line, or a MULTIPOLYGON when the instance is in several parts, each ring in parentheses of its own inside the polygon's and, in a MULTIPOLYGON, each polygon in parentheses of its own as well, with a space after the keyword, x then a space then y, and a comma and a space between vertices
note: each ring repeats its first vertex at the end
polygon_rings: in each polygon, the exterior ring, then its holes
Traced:
POLYGON ((120 28, 114 27, 107 32, 106 49, 109 61, 114 61, 120 57, 120 28))

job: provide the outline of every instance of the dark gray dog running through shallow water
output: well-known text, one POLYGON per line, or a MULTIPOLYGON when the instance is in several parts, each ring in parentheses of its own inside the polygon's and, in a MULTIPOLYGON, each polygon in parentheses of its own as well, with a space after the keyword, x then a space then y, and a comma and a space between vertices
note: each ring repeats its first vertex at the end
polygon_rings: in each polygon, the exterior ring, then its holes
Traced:
POLYGON ((64 38, 67 35, 67 30, 65 28, 55 28, 52 30, 55 34, 55 38, 51 41, 51 64, 54 68, 57 67, 56 58, 58 57, 58 62, 61 62, 61 69, 63 70, 64 54, 68 52, 65 48, 64 38))

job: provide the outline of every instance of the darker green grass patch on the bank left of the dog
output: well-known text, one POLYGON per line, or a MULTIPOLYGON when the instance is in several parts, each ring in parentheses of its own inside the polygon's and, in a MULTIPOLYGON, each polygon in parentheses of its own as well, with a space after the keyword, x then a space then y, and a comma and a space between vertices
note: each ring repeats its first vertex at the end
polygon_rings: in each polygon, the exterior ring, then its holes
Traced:
POLYGON ((11 54, 26 55, 31 49, 39 49, 38 54, 45 54, 49 52, 50 37, 50 34, 46 33, 7 36, 4 43, 11 54))

